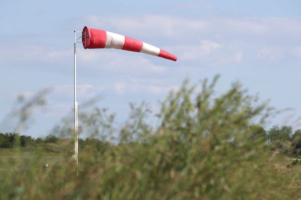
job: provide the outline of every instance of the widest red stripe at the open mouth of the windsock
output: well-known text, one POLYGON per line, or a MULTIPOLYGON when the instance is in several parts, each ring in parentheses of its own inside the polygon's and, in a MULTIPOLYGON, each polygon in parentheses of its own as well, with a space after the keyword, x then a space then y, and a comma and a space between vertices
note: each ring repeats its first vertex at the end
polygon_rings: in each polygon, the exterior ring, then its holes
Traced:
POLYGON ((88 28, 87 26, 84 27, 82 36, 84 48, 104 48, 105 40, 105 30, 88 28))

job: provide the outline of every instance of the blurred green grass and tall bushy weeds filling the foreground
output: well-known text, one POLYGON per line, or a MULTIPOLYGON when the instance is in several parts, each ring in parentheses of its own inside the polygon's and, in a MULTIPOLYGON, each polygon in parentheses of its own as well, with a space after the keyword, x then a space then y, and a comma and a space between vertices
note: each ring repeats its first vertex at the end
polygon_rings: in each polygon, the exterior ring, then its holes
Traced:
MULTIPOLYGON (((170 92, 156 127, 147 122, 151 110, 144 102, 130 104, 120 128, 114 128, 114 115, 105 109, 82 113, 81 132, 92 137, 79 141, 78 169, 71 157, 72 139, 21 135, 20 140, 12 137, 11 145, 7 138, 14 134, 1 134, 1 145, 13 152, 5 150, 7 156, 0 158, 0 198, 301 198, 301 165, 287 156, 300 155, 301 131, 290 126, 264 130, 266 105, 239 83, 216 97, 216 80, 203 81, 201 91, 185 81, 179 91, 170 92), (113 144, 105 141, 112 141, 112 135, 113 144), (28 145, 34 150, 21 152, 28 145), (55 157, 49 167, 45 152, 55 157)), ((70 124, 64 119, 54 130, 66 136, 70 124)))

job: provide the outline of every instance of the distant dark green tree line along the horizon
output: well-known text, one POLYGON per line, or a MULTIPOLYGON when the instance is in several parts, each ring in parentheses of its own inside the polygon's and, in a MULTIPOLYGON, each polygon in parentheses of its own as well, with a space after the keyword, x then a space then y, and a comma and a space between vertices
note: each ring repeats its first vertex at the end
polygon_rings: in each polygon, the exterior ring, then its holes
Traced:
MULTIPOLYGON (((253 132, 250 139, 262 138, 266 141, 266 145, 270 145, 284 154, 301 155, 301 129, 293 131, 290 125, 274 125, 268 130, 259 125, 251 125, 250 129, 253 132)), ((16 132, 0 132, 0 148, 20 146, 24 150, 34 150, 38 145, 47 143, 61 145, 70 143, 71 140, 59 138, 53 134, 49 134, 46 137, 34 138, 30 135, 21 135, 16 132)), ((104 144, 109 144, 109 142, 98 138, 79 138, 79 148, 93 146, 96 150, 100 150, 104 144)))

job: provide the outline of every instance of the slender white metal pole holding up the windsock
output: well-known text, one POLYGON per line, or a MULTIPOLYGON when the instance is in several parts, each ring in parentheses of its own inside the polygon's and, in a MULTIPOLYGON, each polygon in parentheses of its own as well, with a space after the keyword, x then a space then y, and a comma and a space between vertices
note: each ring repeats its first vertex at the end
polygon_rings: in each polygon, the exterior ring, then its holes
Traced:
MULTIPOLYGON (((74 158, 78 168, 78 108, 76 101, 76 30, 74 29, 74 158)), ((78 171, 77 171, 78 175, 78 171)))

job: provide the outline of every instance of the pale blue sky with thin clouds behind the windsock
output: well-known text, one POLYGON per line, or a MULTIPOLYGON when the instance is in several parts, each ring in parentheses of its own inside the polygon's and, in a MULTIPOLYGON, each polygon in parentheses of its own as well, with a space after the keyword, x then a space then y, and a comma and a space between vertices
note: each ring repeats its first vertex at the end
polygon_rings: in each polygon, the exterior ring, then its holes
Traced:
POLYGON ((197 83, 221 74, 219 93, 239 80, 270 106, 292 108, 267 128, 301 128, 300 10, 299 0, 1 1, 0 120, 19 94, 31 97, 47 86, 54 88, 48 105, 24 133, 47 135, 71 110, 73 29, 87 25, 161 47, 178 61, 78 44, 79 103, 101 95, 99 106, 121 122, 128 102, 145 100, 158 110, 158 99, 184 78, 197 83))

